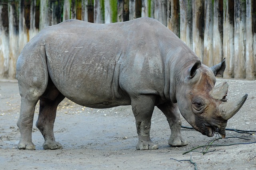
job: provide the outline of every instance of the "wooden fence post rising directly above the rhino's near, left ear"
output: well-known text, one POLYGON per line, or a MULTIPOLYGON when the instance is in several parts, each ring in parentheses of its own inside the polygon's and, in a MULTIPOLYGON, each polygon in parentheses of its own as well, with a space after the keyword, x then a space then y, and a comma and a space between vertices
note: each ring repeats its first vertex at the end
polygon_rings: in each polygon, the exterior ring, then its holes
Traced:
POLYGON ((193 51, 203 62, 204 56, 204 2, 194 0, 192 3, 193 51))

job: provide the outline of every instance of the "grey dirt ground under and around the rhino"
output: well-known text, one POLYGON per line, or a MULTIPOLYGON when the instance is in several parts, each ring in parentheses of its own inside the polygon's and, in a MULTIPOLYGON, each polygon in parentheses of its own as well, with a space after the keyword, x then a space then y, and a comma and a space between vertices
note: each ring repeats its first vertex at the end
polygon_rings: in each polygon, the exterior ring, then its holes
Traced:
MULTIPOLYGON (((235 100, 245 93, 248 98, 241 110, 228 121, 227 128, 256 130, 256 81, 223 80, 229 84, 228 100, 235 100)), ((39 107, 36 106, 34 124, 39 107)), ((136 150, 138 142, 135 119, 130 106, 110 109, 91 109, 64 99, 58 106, 54 124, 55 138, 63 145, 62 150, 44 150, 44 138, 34 125, 32 141, 36 150, 19 150, 20 132, 16 122, 20 112, 20 95, 15 80, 0 81, 0 169, 3 170, 255 170, 255 133, 240 134, 227 131, 225 138, 213 144, 236 144, 198 148, 182 154, 196 146, 208 145, 212 138, 195 130, 182 128, 182 136, 189 144, 170 147, 170 129, 166 118, 158 108, 154 110, 151 138, 159 144, 158 150, 136 150), (239 137, 239 138, 238 138, 239 137), (243 143, 243 144, 237 144, 243 143), (202 154, 203 151, 212 151, 202 154), (173 160, 173 159, 176 160, 173 160)), ((189 124, 182 118, 182 124, 189 124)))

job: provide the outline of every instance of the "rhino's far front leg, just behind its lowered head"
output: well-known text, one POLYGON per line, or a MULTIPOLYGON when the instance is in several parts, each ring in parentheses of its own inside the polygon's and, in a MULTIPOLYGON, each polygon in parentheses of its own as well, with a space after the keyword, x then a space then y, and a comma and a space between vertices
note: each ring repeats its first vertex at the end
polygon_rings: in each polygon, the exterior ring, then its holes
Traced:
POLYGON ((164 113, 167 118, 168 124, 171 129, 171 136, 168 140, 170 146, 185 146, 188 144, 187 140, 181 137, 180 128, 180 112, 178 104, 172 102, 164 103, 158 106, 158 108, 164 113))

